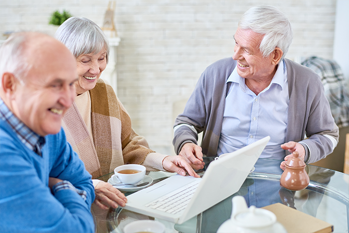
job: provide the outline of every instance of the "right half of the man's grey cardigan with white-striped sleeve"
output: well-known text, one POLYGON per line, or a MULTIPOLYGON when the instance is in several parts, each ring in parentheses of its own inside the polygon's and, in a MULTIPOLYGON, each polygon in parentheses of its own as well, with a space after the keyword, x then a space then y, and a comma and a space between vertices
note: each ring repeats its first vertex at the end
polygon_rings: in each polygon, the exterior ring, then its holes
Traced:
POLYGON ((314 163, 337 146, 339 129, 319 75, 288 59, 285 62, 290 92, 286 142, 305 144, 306 162, 314 163))

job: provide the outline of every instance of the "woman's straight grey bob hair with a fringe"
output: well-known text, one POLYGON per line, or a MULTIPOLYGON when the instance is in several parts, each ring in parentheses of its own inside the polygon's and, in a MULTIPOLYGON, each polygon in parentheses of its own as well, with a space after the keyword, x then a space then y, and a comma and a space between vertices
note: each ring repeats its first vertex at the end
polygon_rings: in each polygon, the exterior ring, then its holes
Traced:
POLYGON ((106 49, 106 59, 108 62, 108 38, 102 29, 88 18, 68 18, 58 27, 54 36, 65 44, 75 57, 81 54, 96 54, 102 49, 106 49))

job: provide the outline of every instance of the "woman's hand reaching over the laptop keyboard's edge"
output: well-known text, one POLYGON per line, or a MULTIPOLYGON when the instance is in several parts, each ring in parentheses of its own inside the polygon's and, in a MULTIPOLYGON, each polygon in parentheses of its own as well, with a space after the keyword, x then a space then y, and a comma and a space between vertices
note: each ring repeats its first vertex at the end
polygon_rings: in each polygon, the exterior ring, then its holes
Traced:
POLYGON ((185 171, 193 177, 199 177, 194 170, 190 167, 190 165, 185 162, 183 157, 176 156, 168 156, 163 160, 163 167, 168 172, 176 172, 181 176, 185 176, 185 171))

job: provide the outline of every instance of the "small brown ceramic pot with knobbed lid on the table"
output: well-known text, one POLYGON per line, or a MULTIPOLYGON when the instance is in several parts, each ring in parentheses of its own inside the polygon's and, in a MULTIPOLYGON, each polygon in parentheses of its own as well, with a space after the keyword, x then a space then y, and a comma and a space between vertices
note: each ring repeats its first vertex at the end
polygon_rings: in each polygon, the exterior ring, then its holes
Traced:
POLYGON ((302 158, 299 158, 297 151, 293 152, 292 155, 293 157, 286 162, 286 169, 281 175, 280 183, 288 190, 303 190, 309 185, 309 176, 305 171, 307 165, 302 158))

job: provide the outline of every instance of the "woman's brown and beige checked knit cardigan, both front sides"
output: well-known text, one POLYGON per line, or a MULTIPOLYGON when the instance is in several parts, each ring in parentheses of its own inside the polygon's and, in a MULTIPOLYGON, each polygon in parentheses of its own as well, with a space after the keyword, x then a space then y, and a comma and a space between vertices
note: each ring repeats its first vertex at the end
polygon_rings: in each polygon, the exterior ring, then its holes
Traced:
POLYGON ((132 129, 131 118, 113 88, 99 79, 89 92, 92 136, 75 102, 64 115, 62 126, 67 141, 92 179, 111 173, 123 164, 143 163, 154 151, 149 149, 146 139, 132 129))

